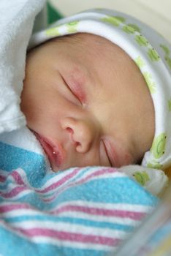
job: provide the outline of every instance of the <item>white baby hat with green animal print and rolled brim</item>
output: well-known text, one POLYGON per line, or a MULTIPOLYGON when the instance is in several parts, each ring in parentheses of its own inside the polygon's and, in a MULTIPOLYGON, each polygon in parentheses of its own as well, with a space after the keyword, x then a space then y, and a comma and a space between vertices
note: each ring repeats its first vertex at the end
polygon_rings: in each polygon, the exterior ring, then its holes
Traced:
POLYGON ((129 15, 113 10, 80 12, 53 23, 31 37, 29 48, 54 37, 79 32, 96 34, 120 46, 140 68, 153 99, 155 136, 142 165, 171 165, 171 46, 156 31, 129 15))

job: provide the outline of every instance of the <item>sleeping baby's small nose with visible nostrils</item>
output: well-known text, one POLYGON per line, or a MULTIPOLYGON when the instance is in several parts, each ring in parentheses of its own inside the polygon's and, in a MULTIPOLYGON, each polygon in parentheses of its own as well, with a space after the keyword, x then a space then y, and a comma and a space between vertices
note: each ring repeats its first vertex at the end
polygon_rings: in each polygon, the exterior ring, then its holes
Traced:
POLYGON ((67 118, 65 127, 69 132, 72 143, 79 153, 86 153, 90 150, 97 135, 97 127, 91 120, 77 120, 75 118, 67 118))

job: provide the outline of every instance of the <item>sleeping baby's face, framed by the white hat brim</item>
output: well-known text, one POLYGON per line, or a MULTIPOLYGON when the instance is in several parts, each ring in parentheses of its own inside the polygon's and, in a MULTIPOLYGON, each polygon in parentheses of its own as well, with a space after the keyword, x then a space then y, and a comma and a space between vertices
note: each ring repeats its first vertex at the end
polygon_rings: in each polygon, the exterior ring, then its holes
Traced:
POLYGON ((28 53, 21 109, 54 171, 132 164, 153 140, 153 104, 140 70, 91 34, 28 53))

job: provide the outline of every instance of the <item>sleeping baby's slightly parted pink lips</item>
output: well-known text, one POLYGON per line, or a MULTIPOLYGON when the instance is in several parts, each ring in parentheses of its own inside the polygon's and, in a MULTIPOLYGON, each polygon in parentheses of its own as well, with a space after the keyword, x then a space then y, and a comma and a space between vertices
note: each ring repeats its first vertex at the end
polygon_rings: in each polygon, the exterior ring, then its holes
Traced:
POLYGON ((51 167, 60 167, 64 162, 64 154, 61 151, 60 146, 54 145, 50 140, 43 137, 42 135, 39 135, 37 132, 34 132, 34 135, 36 136, 37 140, 39 140, 39 143, 44 149, 45 154, 50 161, 51 167))

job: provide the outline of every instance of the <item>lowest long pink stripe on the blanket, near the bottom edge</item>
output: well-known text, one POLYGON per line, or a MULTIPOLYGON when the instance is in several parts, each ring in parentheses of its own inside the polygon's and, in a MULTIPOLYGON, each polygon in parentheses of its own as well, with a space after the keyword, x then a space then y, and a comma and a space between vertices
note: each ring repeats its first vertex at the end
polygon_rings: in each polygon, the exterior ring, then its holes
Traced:
POLYGON ((16 229, 28 237, 45 236, 56 238, 58 240, 75 241, 80 243, 103 244, 108 246, 116 246, 121 239, 109 238, 105 236, 85 235, 81 233, 69 233, 64 231, 56 231, 45 228, 31 228, 28 230, 16 229))

